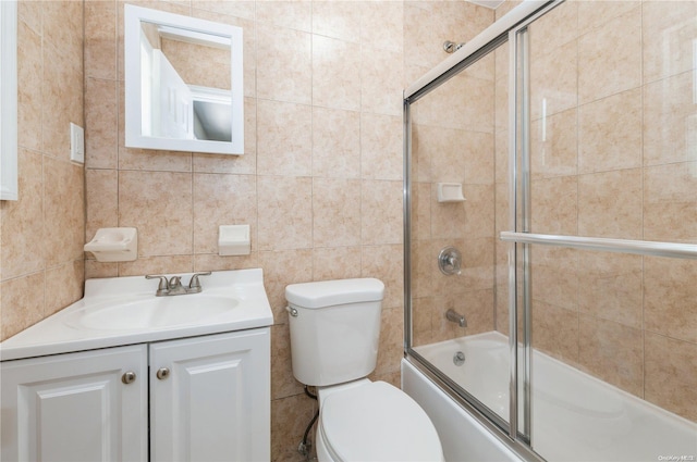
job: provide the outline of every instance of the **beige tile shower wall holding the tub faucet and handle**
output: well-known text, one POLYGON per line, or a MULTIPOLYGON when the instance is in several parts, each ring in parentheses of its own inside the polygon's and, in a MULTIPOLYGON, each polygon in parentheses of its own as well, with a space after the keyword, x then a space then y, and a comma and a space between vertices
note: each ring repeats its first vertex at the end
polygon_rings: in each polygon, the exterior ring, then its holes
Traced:
MULTIPOLYGON (((405 8, 408 30, 417 30, 415 37, 405 38, 407 46, 414 41, 416 51, 407 73, 415 75, 421 68, 418 66, 432 66, 447 57, 442 49, 438 54, 429 47, 440 46, 445 39, 466 41, 493 22, 492 10, 466 3, 452 3, 447 9, 408 3, 405 8), (441 33, 436 24, 448 28, 441 33), (464 35, 458 24, 468 25, 464 35)), ((490 55, 412 105, 416 346, 493 328, 493 79, 494 60, 490 55), (439 203, 438 183, 462 184, 466 201, 439 203), (438 254, 447 246, 462 252, 458 275, 445 276, 438 269, 438 254), (448 322, 449 309, 464 314, 467 327, 448 322)))

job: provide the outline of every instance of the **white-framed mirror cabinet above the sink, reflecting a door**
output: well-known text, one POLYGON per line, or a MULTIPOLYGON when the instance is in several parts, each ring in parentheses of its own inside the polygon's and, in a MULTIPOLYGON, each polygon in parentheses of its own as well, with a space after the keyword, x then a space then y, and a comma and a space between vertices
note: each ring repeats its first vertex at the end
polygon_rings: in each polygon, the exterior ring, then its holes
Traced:
POLYGON ((125 5, 126 147, 244 153, 242 28, 125 5))

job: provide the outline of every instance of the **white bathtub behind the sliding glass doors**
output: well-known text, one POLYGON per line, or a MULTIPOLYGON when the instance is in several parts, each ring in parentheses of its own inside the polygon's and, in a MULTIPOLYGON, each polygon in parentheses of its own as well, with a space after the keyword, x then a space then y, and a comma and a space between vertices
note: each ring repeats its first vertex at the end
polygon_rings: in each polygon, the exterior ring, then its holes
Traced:
MULTIPOLYGON (((508 337, 489 332, 415 350, 508 421, 508 337)), ((533 367, 533 449, 545 459, 697 462, 697 424, 547 354, 535 351, 533 367)), ((406 359, 402 387, 431 416, 445 460, 519 459, 406 359)))

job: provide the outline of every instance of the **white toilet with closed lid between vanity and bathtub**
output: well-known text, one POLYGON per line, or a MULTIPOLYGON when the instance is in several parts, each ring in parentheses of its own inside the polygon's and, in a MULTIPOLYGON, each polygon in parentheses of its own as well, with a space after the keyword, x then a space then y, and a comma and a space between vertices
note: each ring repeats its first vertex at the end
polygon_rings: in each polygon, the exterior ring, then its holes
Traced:
POLYGON ((384 285, 374 278, 285 288, 293 375, 317 387, 319 462, 443 461, 426 412, 367 378, 376 366, 384 285))

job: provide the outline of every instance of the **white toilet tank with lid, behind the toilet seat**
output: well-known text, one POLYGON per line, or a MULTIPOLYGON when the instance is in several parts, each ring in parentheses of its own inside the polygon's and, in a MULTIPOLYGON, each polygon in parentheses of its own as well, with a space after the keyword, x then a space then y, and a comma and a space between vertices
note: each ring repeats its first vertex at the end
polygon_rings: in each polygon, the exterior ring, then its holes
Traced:
POLYGON ((370 374, 378 357, 383 295, 384 284, 374 278, 288 286, 295 378, 329 386, 370 374))

